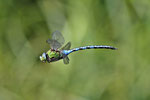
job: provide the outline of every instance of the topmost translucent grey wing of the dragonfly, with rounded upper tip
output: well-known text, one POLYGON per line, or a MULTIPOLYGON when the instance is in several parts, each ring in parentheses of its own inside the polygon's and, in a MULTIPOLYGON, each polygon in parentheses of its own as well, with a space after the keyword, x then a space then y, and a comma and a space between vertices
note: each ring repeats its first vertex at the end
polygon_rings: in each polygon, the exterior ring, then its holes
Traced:
POLYGON ((63 45, 64 42, 65 42, 64 37, 62 36, 62 34, 61 34, 59 31, 55 31, 55 32, 52 33, 52 39, 53 39, 53 40, 56 40, 56 41, 59 42, 61 45, 63 45))

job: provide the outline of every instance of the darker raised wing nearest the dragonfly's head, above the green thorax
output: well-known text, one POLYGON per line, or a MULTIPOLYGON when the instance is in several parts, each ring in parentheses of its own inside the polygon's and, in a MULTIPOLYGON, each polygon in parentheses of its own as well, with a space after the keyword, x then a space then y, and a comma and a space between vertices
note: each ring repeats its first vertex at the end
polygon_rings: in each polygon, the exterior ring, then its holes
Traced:
POLYGON ((61 44, 56 40, 48 39, 46 40, 46 43, 50 44, 50 47, 54 50, 61 47, 61 44))

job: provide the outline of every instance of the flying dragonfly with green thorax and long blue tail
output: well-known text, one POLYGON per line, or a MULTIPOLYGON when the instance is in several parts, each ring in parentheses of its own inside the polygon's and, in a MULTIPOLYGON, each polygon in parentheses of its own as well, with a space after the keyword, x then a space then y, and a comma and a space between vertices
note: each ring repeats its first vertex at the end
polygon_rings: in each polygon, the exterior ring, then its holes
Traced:
POLYGON ((62 47, 62 45, 65 43, 65 39, 61 32, 55 31, 52 33, 52 39, 46 40, 46 43, 50 45, 50 49, 47 52, 44 52, 40 56, 40 60, 42 62, 55 62, 58 60, 63 59, 64 64, 69 64, 69 57, 68 55, 70 53, 73 53, 75 51, 79 50, 86 50, 86 49, 111 49, 116 50, 117 48, 113 46, 107 46, 107 45, 91 45, 91 46, 83 46, 78 47, 74 49, 71 48, 71 42, 68 42, 65 46, 62 47))

